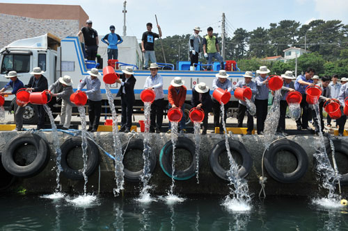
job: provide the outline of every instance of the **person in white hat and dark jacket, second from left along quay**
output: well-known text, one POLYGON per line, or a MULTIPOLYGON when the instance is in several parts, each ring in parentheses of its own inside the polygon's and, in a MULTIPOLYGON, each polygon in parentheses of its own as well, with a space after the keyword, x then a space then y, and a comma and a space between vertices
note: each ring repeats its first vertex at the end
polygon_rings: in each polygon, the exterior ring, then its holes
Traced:
MULTIPOLYGON (((43 92, 45 89, 48 89, 47 78, 43 76, 45 71, 41 71, 40 67, 34 67, 33 71, 31 71, 31 76, 29 83, 26 85, 27 92, 43 92)), ((36 126, 37 130, 45 128, 45 110, 43 105, 35 105, 36 112, 38 112, 38 126, 36 126)))

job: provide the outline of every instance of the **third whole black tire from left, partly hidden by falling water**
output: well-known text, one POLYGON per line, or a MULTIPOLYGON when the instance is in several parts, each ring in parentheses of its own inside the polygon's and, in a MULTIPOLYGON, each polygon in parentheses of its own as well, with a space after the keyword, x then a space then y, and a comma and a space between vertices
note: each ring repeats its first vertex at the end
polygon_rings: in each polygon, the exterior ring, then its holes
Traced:
MULTIPOLYGON (((129 151, 132 151, 132 150, 140 150, 141 152, 143 152, 144 150, 143 139, 132 140, 131 142, 129 142, 128 146, 127 144, 123 145, 122 146, 122 153, 124 153, 123 157, 125 157, 127 153, 129 153, 129 151), (126 147, 127 147, 127 150, 126 150, 126 147)), ((123 158, 123 160, 125 159, 123 158)), ((150 166, 149 166, 150 173, 153 173, 153 171, 155 170, 156 162, 157 162, 156 154, 155 152, 152 151, 150 153, 150 166)), ((123 172, 125 173, 125 180, 130 182, 139 182, 141 181, 141 175, 143 174, 143 169, 139 171, 130 171, 124 168, 123 172)))

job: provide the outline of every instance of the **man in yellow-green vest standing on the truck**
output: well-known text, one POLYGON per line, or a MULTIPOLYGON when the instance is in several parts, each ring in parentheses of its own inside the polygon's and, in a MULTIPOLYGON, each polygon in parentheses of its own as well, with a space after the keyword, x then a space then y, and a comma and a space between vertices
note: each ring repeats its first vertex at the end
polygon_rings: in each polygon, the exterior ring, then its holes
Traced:
POLYGON ((207 58, 208 64, 212 64, 213 58, 219 60, 221 69, 225 69, 223 66, 223 58, 220 55, 219 42, 217 38, 213 35, 213 28, 207 28, 207 36, 203 38, 203 52, 204 57, 207 58))

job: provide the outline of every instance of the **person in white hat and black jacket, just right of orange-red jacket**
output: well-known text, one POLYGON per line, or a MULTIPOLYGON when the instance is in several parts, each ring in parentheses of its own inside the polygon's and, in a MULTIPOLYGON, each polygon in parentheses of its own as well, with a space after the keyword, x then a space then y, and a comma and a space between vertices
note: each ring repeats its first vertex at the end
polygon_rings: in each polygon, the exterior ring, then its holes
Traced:
POLYGON ((212 97, 209 94, 209 87, 205 83, 201 82, 192 88, 191 105, 204 110, 202 135, 207 134, 208 114, 212 112, 212 97))

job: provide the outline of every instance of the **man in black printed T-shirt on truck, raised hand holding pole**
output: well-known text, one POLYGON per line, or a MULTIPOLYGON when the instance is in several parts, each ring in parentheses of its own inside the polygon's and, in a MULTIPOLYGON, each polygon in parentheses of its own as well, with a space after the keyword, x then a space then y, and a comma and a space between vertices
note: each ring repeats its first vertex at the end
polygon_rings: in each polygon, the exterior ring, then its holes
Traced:
POLYGON ((148 29, 148 31, 144 32, 143 37, 141 38, 141 51, 143 51, 144 53, 144 69, 148 69, 149 58, 151 62, 156 62, 154 49, 155 37, 162 37, 162 31, 159 25, 157 25, 159 34, 153 33, 151 31, 152 24, 150 22, 146 24, 146 28, 148 29))

